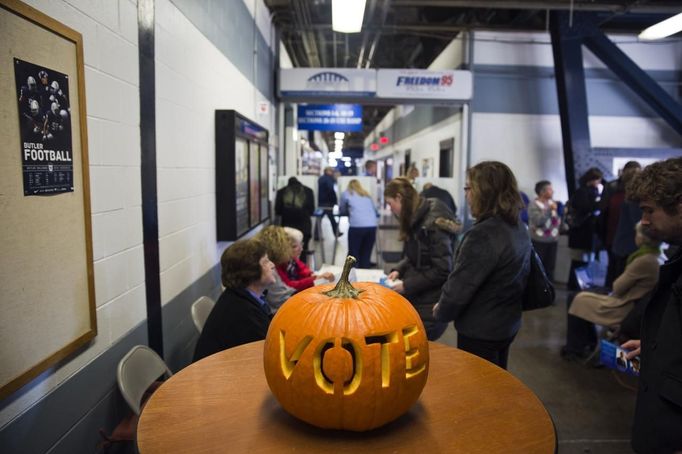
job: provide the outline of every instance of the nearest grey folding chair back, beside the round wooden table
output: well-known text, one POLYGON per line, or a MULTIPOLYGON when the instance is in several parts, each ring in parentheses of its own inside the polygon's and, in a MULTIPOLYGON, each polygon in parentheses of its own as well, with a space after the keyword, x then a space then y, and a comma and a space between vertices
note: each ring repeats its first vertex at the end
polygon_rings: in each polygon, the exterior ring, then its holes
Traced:
POLYGON ((116 371, 118 389, 135 414, 140 414, 142 396, 161 375, 173 373, 154 350, 146 345, 134 346, 119 361, 116 371))

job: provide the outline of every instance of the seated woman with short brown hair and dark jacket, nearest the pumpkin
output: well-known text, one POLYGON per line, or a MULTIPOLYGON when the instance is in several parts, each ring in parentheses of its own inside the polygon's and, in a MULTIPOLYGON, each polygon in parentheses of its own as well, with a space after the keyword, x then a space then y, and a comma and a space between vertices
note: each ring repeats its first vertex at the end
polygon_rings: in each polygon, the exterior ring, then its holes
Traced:
POLYGON ((275 265, 258 240, 240 240, 220 258, 225 291, 201 331, 193 361, 237 345, 265 339, 270 309, 261 298, 275 282, 275 265))

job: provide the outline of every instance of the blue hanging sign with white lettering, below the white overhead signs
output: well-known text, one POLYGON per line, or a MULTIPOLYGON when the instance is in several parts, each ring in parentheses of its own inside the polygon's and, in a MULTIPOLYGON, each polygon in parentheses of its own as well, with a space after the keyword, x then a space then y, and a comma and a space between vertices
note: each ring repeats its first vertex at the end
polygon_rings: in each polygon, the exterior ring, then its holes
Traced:
POLYGON ((298 129, 310 131, 362 131, 359 104, 307 104, 298 106, 298 129))

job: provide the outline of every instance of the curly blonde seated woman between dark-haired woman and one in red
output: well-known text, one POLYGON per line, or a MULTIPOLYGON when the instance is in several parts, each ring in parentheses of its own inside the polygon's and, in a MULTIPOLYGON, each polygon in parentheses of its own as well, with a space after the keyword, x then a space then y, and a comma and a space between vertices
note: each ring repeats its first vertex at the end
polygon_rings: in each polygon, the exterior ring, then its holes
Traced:
MULTIPOLYGON (((258 232, 256 239, 265 245, 268 258, 275 266, 286 266, 291 254, 291 244, 284 227, 269 225, 258 232)), ((282 281, 279 273, 274 273, 274 275, 275 282, 265 288, 265 300, 268 302, 273 313, 277 312, 277 309, 279 309, 291 295, 296 293, 295 288, 289 287, 282 281)))

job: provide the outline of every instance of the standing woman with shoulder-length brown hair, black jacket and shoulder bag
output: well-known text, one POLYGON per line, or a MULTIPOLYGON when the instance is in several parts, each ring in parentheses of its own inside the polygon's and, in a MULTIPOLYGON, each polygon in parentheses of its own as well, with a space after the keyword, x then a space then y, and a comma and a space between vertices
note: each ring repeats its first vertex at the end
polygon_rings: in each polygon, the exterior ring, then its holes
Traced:
POLYGON ((476 223, 457 248, 433 313, 436 320, 454 320, 458 348, 506 369, 530 270, 523 202, 514 174, 501 162, 467 170, 464 190, 476 223))

